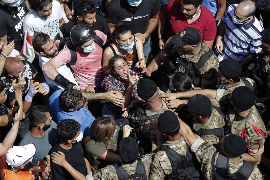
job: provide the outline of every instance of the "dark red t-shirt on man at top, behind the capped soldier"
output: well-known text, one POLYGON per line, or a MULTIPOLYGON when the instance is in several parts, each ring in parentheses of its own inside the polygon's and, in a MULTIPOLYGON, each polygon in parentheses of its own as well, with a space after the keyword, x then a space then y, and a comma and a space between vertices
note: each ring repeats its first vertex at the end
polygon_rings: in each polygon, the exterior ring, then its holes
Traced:
POLYGON ((169 19, 170 27, 165 40, 181 32, 185 28, 195 28, 201 35, 201 41, 212 41, 216 37, 216 21, 213 14, 204 6, 201 6, 201 14, 197 20, 188 24, 181 11, 181 0, 172 0, 163 9, 164 16, 169 19))

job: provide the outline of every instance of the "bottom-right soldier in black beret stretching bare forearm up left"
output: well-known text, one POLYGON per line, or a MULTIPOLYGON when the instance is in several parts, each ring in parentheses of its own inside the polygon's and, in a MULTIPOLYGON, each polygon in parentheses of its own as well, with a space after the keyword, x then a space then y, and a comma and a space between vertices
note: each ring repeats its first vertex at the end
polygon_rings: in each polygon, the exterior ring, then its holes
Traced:
POLYGON ((241 137, 234 134, 226 135, 219 141, 219 152, 217 152, 216 148, 214 148, 211 143, 205 142, 203 139, 194 135, 190 127, 184 122, 181 122, 180 124, 180 134, 183 139, 185 139, 186 144, 191 147, 193 152, 195 152, 197 159, 201 164, 204 179, 216 179, 215 174, 218 172, 216 168, 217 159, 220 156, 221 160, 223 160, 221 163, 228 165, 225 178, 228 178, 228 176, 235 178, 234 176, 236 176, 241 167, 243 167, 242 170, 245 172, 244 174, 247 174, 247 180, 263 179, 259 169, 255 165, 244 161, 243 156, 241 156, 246 151, 246 143, 241 137), (214 157, 214 162, 212 162, 212 157, 214 157), (248 169, 244 168, 244 165, 247 166, 248 169))

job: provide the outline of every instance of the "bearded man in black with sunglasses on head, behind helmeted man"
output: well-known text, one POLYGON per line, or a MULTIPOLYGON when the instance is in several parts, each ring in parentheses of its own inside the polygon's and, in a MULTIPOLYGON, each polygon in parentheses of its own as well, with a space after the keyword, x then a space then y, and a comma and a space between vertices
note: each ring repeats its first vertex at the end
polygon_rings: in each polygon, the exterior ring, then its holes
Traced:
POLYGON ((99 30, 106 35, 110 32, 106 19, 103 16, 96 14, 96 7, 92 2, 83 1, 79 3, 77 14, 78 18, 74 18, 65 24, 63 30, 64 38, 70 36, 71 29, 77 24, 87 24, 94 31, 99 30))

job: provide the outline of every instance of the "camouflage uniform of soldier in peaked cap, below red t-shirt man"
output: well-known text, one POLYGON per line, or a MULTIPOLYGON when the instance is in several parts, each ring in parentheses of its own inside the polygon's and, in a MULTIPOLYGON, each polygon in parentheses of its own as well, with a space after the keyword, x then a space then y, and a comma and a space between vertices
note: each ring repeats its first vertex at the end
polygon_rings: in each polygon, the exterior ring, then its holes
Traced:
MULTIPOLYGON (((195 56, 189 55, 185 51, 181 51, 171 42, 171 37, 166 41, 164 49, 168 55, 173 56, 176 52, 181 58, 185 58, 190 62, 197 63, 199 58, 209 51, 209 48, 203 43, 201 50, 195 56)), ((178 68, 178 67, 177 67, 178 68)), ((199 75, 202 77, 201 83, 205 85, 215 85, 216 84, 216 75, 218 70, 218 58, 213 54, 202 66, 199 67, 199 75)), ((183 70, 184 72, 185 70, 183 70)))

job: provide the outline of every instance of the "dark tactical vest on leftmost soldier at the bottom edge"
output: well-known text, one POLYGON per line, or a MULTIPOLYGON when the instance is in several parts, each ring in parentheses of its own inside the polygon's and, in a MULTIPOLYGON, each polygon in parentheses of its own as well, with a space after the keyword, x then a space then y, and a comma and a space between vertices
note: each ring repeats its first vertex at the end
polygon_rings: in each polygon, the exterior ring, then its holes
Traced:
POLYGON ((137 158, 137 167, 134 174, 127 174, 124 168, 122 166, 119 166, 117 164, 114 164, 114 167, 116 169, 116 173, 119 180, 144 180, 147 179, 146 177, 146 171, 144 167, 144 163, 142 163, 142 160, 140 158, 137 158))

